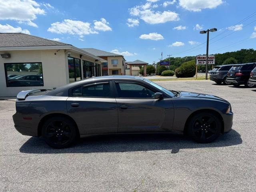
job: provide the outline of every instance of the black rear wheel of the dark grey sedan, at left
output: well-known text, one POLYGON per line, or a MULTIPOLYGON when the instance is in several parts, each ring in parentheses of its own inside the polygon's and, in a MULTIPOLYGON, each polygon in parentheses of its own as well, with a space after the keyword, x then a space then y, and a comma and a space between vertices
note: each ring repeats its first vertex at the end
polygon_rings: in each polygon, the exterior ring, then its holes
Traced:
POLYGON ((67 148, 76 140, 76 125, 64 117, 52 117, 42 126, 42 138, 52 148, 67 148))

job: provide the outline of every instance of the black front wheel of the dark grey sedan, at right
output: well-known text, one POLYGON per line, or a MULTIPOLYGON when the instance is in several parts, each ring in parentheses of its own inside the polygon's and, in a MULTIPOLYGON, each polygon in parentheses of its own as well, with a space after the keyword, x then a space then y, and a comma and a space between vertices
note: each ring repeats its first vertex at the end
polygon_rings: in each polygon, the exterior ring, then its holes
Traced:
POLYGON ((190 119, 188 134, 196 142, 210 143, 218 138, 221 127, 221 120, 218 116, 210 112, 200 112, 190 119))

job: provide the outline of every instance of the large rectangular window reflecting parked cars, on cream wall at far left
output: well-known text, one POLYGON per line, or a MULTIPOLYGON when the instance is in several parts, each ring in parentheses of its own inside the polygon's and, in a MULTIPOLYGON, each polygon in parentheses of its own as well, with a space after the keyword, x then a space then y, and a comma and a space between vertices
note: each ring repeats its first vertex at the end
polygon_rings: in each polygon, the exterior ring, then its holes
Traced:
POLYGON ((42 63, 5 63, 6 86, 44 86, 42 63))

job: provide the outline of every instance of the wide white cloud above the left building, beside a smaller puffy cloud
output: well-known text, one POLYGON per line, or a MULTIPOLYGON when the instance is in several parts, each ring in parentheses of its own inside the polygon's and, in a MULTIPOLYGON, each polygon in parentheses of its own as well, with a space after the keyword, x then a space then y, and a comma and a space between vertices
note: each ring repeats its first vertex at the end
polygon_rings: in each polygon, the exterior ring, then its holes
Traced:
POLYGON ((65 19, 62 22, 55 22, 48 28, 49 32, 58 34, 72 34, 72 35, 88 35, 98 34, 97 31, 93 30, 88 22, 76 21, 65 19))

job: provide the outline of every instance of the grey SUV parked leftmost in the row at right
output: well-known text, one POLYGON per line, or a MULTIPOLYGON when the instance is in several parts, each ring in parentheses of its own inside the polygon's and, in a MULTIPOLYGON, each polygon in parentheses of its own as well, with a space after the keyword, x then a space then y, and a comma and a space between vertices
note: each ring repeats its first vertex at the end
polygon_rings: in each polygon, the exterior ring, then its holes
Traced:
POLYGON ((216 82, 216 84, 221 84, 222 82, 226 84, 230 84, 230 82, 226 81, 226 78, 228 76, 228 71, 232 65, 218 65, 215 66, 212 70, 209 71, 210 74, 210 80, 216 82))

